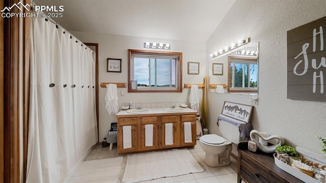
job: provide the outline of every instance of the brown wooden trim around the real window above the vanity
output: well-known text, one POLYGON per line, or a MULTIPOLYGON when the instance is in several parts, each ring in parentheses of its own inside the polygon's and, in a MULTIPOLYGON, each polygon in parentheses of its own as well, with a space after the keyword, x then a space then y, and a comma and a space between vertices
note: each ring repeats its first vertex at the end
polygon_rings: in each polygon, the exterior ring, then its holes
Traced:
POLYGON ((181 93, 182 92, 182 53, 181 52, 166 52, 166 51, 148 51, 148 50, 134 50, 128 49, 128 93, 181 93), (131 90, 131 73, 133 67, 131 54, 146 54, 146 55, 166 55, 166 56, 178 56, 179 57, 179 88, 178 89, 135 89, 131 90))

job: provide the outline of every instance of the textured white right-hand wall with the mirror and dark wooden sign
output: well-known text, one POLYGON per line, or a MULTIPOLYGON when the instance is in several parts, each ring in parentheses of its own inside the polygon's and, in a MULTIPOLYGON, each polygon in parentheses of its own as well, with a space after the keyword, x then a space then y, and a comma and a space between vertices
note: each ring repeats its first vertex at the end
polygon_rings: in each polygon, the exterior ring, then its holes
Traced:
MULTIPOLYGON (((237 0, 206 43, 209 53, 251 37, 259 42, 259 99, 254 129, 278 134, 286 143, 320 154, 315 137, 326 136, 326 103, 290 100, 287 95, 286 32, 326 15, 325 0, 237 0)), ((207 72, 208 73, 208 72, 207 72)), ((216 118, 224 101, 250 104, 249 95, 209 94, 209 130, 219 134, 216 118)))

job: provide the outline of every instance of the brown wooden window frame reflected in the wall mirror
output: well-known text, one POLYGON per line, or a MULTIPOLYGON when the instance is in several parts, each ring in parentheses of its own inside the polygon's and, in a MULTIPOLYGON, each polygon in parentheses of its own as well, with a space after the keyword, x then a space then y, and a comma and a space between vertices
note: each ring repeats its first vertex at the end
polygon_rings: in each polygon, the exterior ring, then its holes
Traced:
MULTIPOLYGON (((237 56, 228 56, 228 93, 257 93, 258 94, 258 72, 257 71, 257 87, 232 87, 230 84, 230 64, 238 61, 237 63, 242 64, 257 64, 258 67, 258 58, 257 57, 237 57, 237 56)), ((234 69, 233 69, 234 72, 234 69)), ((234 73, 232 73, 232 78, 234 78, 234 73)), ((249 78, 250 79, 250 78, 249 78)), ((234 84, 234 81, 232 81, 234 84)))

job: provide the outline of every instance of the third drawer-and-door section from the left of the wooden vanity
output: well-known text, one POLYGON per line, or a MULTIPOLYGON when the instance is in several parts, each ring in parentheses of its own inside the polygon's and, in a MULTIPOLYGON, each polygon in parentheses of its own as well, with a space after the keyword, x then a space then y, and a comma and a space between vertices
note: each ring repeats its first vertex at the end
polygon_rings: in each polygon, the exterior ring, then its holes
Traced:
POLYGON ((169 115, 169 116, 161 116, 161 147, 177 147, 180 144, 180 134, 177 133, 180 130, 179 126, 179 116, 178 115, 169 115), (165 144, 165 126, 166 124, 172 123, 173 126, 173 144, 166 145, 165 144))

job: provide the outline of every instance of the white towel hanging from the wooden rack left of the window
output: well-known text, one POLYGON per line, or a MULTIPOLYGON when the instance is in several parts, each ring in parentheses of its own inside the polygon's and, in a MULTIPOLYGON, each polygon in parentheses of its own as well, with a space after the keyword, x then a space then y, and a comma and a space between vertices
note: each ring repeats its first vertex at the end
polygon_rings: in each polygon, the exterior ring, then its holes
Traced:
POLYGON ((118 105, 118 92, 116 84, 106 84, 106 93, 105 93, 105 109, 108 114, 117 114, 119 111, 118 105))

